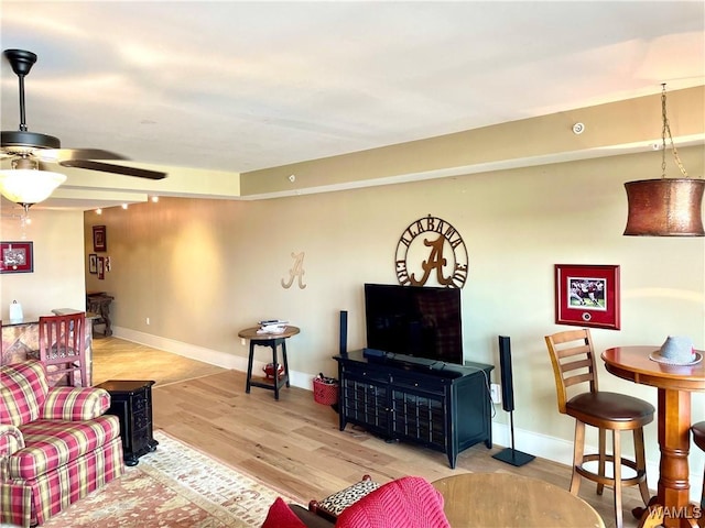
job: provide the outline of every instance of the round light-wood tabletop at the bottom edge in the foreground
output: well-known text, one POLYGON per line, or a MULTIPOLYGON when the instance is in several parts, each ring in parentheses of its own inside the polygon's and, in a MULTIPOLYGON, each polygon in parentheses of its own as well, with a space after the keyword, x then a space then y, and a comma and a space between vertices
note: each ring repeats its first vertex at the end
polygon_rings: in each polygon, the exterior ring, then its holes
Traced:
POLYGON ((593 507, 567 490, 510 473, 464 473, 432 483, 453 527, 605 528, 593 507))

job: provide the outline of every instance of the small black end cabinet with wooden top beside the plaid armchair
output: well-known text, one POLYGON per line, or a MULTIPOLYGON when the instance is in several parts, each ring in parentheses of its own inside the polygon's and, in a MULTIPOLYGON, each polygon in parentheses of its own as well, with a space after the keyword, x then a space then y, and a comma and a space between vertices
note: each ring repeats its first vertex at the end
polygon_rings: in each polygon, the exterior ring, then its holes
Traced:
POLYGON ((120 418, 120 437, 124 463, 137 465, 139 458, 156 449, 159 442, 152 436, 152 381, 109 380, 98 388, 110 393, 107 414, 120 418))

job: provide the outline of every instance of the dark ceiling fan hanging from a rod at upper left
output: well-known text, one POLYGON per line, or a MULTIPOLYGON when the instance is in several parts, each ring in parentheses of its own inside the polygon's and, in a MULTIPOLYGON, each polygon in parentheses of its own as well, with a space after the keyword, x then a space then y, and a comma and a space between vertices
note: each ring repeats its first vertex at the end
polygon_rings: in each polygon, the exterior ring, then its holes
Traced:
MULTIPOLYGON (((11 158, 12 169, 40 169, 41 163, 46 162, 57 163, 58 165, 62 165, 64 167, 86 168, 89 170, 121 174, 126 176, 134 176, 138 178, 163 179, 166 177, 166 173, 113 165, 112 163, 104 163, 102 161, 105 160, 128 160, 127 157, 113 152, 102 151, 98 148, 62 148, 58 138, 37 132, 30 132, 25 122, 24 77, 30 73, 32 66, 36 62, 36 54, 26 52, 24 50, 6 50, 3 53, 8 62, 12 66, 12 70, 18 76, 20 82, 19 130, 3 130, 0 138, 0 160, 11 158)), ((40 172, 46 173, 45 170, 40 172)), ((4 173, 7 174, 9 173, 9 170, 6 170, 4 173)), ((48 194, 51 194, 54 188, 56 188, 58 185, 61 185, 61 183, 65 180, 65 177, 63 175, 55 176, 59 176, 61 182, 54 185, 48 194)), ((48 197, 48 194, 46 195, 46 197, 48 197)), ((8 195, 6 194, 6 196, 8 195)), ((46 197, 44 197, 43 199, 45 199, 46 197)), ((13 199, 13 201, 18 200, 13 199)), ((36 201, 41 200, 34 200, 29 205, 32 205, 36 201)), ((26 200, 18 202, 24 205, 26 204, 26 200)))

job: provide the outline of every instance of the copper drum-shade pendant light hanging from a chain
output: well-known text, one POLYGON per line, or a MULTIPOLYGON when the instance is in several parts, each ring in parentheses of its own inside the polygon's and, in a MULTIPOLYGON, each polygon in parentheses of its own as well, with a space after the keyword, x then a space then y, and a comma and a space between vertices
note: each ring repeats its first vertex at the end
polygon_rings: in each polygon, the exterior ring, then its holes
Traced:
POLYGON ((665 111, 665 84, 661 85, 661 178, 627 182, 628 215, 626 235, 705 237, 702 204, 705 179, 688 177, 673 144, 665 111), (673 158, 682 178, 665 176, 665 138, 669 136, 673 158))

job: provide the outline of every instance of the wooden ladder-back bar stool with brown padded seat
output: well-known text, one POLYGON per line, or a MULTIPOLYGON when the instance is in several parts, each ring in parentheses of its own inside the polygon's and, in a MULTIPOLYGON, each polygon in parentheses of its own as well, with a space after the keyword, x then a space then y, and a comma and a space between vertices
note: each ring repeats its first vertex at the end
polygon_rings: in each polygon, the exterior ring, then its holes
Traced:
POLYGON ((622 526, 621 488, 639 486, 644 505, 649 503, 647 463, 643 450, 643 426, 653 421, 654 407, 642 399, 618 393, 598 391, 595 350, 587 329, 568 330, 545 337, 555 387, 558 411, 575 418, 575 443, 573 447, 573 476, 571 493, 578 494, 581 477, 597 483, 597 494, 605 485, 615 490, 615 519, 617 528, 622 526), (578 394, 568 397, 568 387, 578 394), (579 392, 582 391, 582 392, 579 392), (599 452, 585 454, 585 426, 599 430, 599 452), (612 453, 606 449, 607 431, 612 432, 612 453), (621 455, 621 431, 633 431, 636 460, 621 455), (585 468, 586 462, 598 462, 597 472, 585 468), (612 464, 612 475, 605 472, 605 464, 612 464), (623 477, 622 465, 631 468, 636 475, 623 477))

